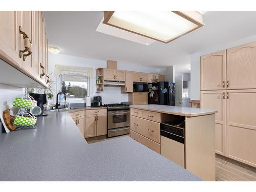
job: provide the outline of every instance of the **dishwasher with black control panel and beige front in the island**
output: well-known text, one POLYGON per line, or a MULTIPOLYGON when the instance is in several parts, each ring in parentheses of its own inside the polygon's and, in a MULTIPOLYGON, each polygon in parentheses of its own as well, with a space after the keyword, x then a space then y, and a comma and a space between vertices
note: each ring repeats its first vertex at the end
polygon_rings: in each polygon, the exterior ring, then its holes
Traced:
POLYGON ((185 168, 185 121, 160 123, 161 155, 185 168))

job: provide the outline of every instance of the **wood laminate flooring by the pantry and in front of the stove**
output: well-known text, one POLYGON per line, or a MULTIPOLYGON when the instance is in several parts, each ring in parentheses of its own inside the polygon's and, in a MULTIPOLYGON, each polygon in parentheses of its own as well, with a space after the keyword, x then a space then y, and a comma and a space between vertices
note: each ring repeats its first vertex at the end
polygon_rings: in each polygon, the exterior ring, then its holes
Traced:
MULTIPOLYGON (((88 138, 88 144, 115 139, 129 135, 106 138, 106 136, 88 138)), ((216 181, 256 181, 256 168, 244 163, 216 155, 216 181)))

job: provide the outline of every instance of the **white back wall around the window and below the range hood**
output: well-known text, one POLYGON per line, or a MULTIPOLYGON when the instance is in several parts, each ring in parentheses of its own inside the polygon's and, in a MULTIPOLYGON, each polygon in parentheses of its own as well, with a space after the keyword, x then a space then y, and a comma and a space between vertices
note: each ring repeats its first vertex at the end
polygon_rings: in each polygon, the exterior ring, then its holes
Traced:
MULTIPOLYGON (((106 61, 105 60, 98 60, 98 59, 90 59, 90 58, 83 58, 83 57, 75 57, 63 54, 51 54, 49 53, 49 71, 48 73, 54 72, 54 67, 56 64, 59 65, 67 65, 67 66, 77 66, 77 67, 92 67, 94 78, 91 79, 91 97, 93 96, 101 96, 102 97, 102 104, 103 103, 120 103, 122 101, 128 101, 128 94, 121 93, 120 87, 104 87, 104 91, 102 93, 95 93, 96 86, 95 86, 95 76, 96 76, 96 69, 97 68, 106 68, 106 61)), ((160 73, 160 69, 157 68, 149 68, 149 67, 142 67, 142 66, 135 66, 132 65, 133 63, 124 63, 124 62, 117 62, 117 69, 120 70, 129 70, 129 71, 139 71, 145 73, 160 73)), ((58 81, 58 79, 56 79, 58 81)), ((59 92, 60 90, 55 90, 59 92)), ((54 96, 54 100, 56 99, 54 96)))

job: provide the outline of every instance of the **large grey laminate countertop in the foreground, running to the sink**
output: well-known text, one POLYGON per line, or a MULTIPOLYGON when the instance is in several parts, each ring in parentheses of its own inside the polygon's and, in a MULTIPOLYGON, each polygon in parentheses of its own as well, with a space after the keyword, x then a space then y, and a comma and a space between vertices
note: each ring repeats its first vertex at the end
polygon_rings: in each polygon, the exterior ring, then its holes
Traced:
POLYGON ((88 144, 68 112, 0 135, 0 181, 202 181, 129 136, 88 144))

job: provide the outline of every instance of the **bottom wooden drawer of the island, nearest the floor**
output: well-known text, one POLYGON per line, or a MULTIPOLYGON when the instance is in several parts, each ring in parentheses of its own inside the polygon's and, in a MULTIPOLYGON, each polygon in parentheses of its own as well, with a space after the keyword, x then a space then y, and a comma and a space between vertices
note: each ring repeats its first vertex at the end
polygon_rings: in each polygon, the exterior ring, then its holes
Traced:
POLYGON ((151 150, 160 154, 160 144, 158 144, 155 141, 152 141, 152 140, 150 140, 132 130, 130 131, 130 136, 134 140, 138 141, 139 143, 147 146, 148 148, 151 148, 151 150))

